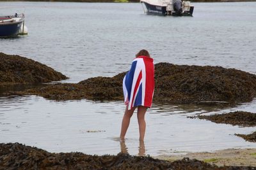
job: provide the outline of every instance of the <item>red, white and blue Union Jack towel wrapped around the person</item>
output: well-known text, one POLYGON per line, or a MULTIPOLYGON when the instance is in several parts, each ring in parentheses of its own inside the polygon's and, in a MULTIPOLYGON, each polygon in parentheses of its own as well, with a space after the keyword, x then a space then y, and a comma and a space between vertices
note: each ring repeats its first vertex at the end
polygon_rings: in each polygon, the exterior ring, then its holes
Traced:
POLYGON ((128 110, 137 106, 152 106, 154 96, 154 63, 147 56, 136 57, 124 77, 124 101, 128 110))

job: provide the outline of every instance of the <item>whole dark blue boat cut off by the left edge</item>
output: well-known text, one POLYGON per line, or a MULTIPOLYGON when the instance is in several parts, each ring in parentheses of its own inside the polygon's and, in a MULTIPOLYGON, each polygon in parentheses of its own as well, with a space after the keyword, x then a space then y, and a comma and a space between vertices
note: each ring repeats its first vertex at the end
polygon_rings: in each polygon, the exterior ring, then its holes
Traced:
POLYGON ((24 29, 24 14, 0 16, 0 37, 17 36, 22 29, 24 29))

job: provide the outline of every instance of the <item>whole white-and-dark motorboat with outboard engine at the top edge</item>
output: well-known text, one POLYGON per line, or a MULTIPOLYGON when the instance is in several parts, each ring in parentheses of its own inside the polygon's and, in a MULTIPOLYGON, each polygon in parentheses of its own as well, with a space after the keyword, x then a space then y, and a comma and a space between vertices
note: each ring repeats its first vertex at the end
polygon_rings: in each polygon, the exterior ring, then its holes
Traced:
MULTIPOLYGON (((145 13, 155 15, 193 16, 194 6, 181 0, 140 0, 147 8, 145 13)), ((144 9, 144 6, 143 6, 144 9)))

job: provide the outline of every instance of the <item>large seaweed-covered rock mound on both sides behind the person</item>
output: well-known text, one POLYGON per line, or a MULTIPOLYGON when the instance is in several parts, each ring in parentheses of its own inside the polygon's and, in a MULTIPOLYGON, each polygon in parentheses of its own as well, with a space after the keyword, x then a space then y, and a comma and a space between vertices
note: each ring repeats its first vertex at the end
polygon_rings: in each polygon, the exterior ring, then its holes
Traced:
MULTIPOLYGON (((110 77, 95 77, 74 84, 58 84, 17 94, 36 94, 47 99, 122 100, 122 79, 125 73, 110 77), (58 89, 59 94, 56 93, 58 89)), ((169 103, 202 103, 251 101, 256 96, 256 76, 236 69, 213 66, 178 66, 169 63, 155 65, 156 89, 154 101, 169 103)))

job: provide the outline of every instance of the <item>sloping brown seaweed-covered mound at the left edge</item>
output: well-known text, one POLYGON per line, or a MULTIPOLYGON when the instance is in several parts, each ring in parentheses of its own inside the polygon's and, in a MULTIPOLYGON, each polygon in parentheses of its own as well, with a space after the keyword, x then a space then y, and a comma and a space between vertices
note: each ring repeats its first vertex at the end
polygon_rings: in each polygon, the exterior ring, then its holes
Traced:
POLYGON ((45 83, 67 77, 35 60, 0 53, 0 85, 45 83))

